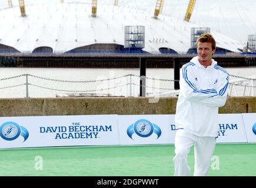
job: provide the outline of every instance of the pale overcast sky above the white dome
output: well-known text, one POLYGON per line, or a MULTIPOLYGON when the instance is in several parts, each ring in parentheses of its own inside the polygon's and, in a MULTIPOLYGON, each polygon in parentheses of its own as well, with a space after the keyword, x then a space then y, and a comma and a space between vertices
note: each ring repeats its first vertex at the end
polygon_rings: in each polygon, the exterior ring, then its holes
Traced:
MULTIPOLYGON (((38 3, 58 3, 60 0, 25 0, 25 5, 38 3)), ((91 0, 64 0, 83 2, 91 0)), ((119 0, 119 6, 138 8, 154 14, 157 0, 119 0)), ((162 14, 184 19, 189 0, 165 0, 162 14)), ((12 0, 14 6, 18 0, 12 0)), ((98 4, 114 5, 114 0, 98 0, 98 4)), ((0 0, 0 8, 8 8, 8 0, 0 0)), ((256 0, 197 0, 191 22, 202 27, 210 27, 240 42, 247 42, 250 34, 256 34, 256 0)))

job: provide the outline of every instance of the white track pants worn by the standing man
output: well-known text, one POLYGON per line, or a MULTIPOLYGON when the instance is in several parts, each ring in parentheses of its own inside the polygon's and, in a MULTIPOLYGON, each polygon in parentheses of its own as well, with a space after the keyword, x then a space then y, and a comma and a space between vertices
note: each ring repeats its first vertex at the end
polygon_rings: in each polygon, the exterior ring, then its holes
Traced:
POLYGON ((189 176, 190 168, 187 156, 190 147, 194 145, 195 167, 194 176, 207 176, 211 157, 215 148, 215 137, 195 136, 178 129, 175 135, 174 176, 189 176))

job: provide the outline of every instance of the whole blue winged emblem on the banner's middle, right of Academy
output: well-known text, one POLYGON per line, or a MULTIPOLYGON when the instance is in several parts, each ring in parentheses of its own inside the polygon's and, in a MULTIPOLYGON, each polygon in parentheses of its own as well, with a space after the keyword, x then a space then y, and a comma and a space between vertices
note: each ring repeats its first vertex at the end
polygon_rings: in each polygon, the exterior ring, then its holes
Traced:
POLYGON ((157 139, 161 136, 161 129, 155 123, 149 122, 147 119, 139 119, 137 122, 129 125, 127 135, 132 139, 132 135, 136 133, 140 137, 149 137, 152 133, 157 134, 157 139))

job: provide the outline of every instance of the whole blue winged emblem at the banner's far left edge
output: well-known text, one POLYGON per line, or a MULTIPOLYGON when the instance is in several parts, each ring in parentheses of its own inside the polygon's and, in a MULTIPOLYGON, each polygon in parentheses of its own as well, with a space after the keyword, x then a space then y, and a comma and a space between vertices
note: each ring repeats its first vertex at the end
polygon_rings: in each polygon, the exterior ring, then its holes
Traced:
POLYGON ((8 141, 15 140, 19 136, 22 136, 24 137, 23 142, 25 142, 26 139, 28 139, 29 133, 25 127, 19 126, 15 122, 5 122, 0 127, 0 136, 2 139, 8 141))

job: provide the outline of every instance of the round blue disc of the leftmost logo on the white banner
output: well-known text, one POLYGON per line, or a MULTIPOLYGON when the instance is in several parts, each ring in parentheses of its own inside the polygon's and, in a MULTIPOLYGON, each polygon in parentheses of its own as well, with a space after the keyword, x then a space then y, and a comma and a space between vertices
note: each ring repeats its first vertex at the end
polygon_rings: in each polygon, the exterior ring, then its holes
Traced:
POLYGON ((5 140, 15 140, 21 134, 21 127, 15 122, 5 122, 0 127, 0 136, 5 140))

